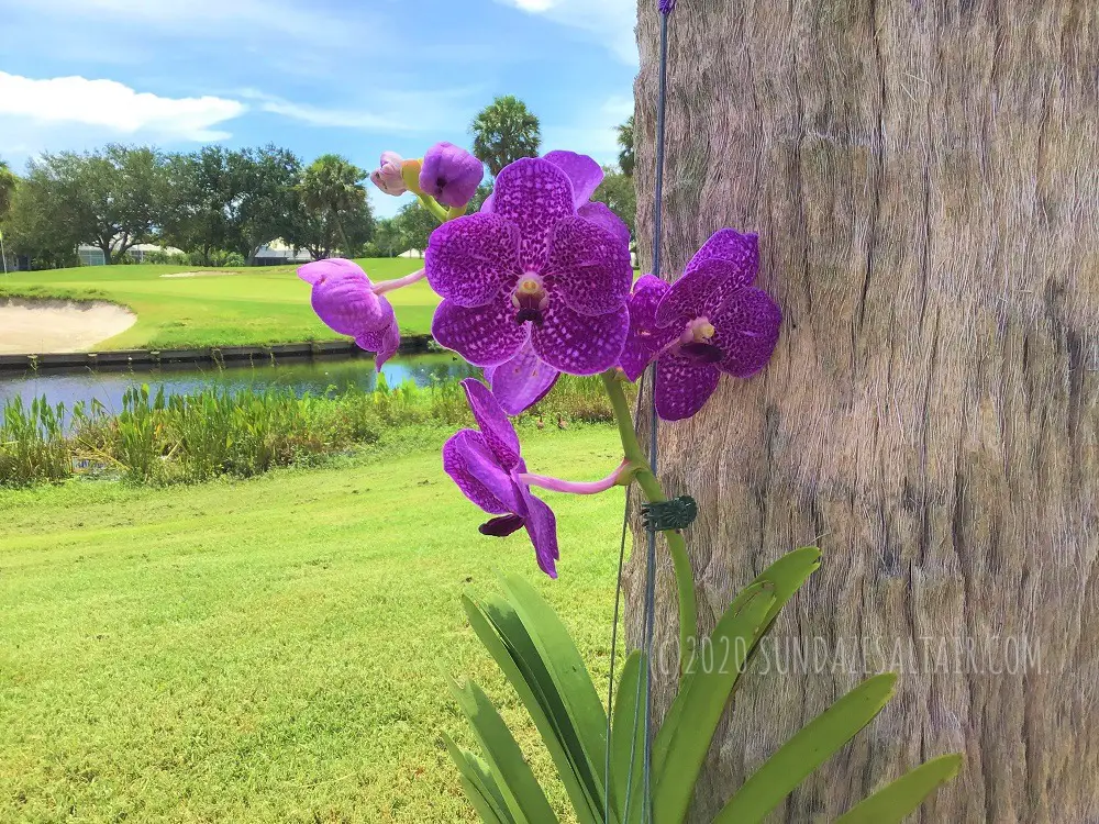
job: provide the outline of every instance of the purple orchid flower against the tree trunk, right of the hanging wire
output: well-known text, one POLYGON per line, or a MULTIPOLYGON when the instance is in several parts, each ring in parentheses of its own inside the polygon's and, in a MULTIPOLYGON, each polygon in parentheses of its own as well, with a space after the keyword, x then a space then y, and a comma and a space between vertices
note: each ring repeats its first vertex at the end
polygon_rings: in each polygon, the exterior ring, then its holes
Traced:
POLYGON ((756 235, 714 234, 668 286, 646 275, 630 300, 630 337, 621 367, 636 380, 657 358, 656 411, 665 421, 698 412, 721 374, 748 378, 767 365, 782 313, 762 289, 756 235))

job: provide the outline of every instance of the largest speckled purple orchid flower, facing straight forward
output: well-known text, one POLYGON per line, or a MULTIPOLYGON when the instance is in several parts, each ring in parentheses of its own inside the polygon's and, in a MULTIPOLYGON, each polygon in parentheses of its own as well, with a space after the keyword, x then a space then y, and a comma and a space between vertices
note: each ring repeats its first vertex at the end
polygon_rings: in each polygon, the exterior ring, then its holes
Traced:
POLYGON ((432 334, 475 366, 510 360, 528 341, 541 360, 573 375, 618 363, 630 249, 577 214, 573 183, 553 163, 506 167, 492 211, 444 223, 425 257, 428 281, 443 297, 432 334))

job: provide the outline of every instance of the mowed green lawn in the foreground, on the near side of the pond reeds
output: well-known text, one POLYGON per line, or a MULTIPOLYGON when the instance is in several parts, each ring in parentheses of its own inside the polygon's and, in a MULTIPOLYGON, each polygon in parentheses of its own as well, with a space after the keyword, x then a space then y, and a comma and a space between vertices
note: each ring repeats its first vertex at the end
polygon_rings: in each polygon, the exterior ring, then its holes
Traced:
MULTIPOLYGON (((617 463, 612 427, 523 434, 531 466, 617 463)), ((459 603, 535 581, 596 678, 609 665, 622 495, 547 493, 560 578, 434 449, 166 490, 0 492, 0 821, 475 821, 440 734, 443 673, 485 686, 564 792, 459 603)), ((567 820, 567 819, 563 819, 567 820)))

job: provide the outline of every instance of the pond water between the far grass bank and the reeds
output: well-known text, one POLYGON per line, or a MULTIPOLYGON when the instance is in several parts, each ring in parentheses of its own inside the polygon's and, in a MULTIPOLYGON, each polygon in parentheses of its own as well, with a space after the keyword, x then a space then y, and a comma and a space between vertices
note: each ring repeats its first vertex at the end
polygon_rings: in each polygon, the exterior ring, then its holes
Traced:
MULTIPOLYGON (((386 382, 393 387, 407 380, 418 386, 439 381, 460 380, 475 374, 473 367, 448 354, 410 355, 396 357, 382 369, 386 382)), ((157 369, 133 371, 93 371, 88 368, 69 370, 30 371, 22 376, 0 377, 0 420, 3 407, 15 397, 30 404, 34 398, 45 396, 51 404, 64 402, 71 409, 76 403, 98 400, 108 411, 122 409, 122 396, 130 387, 148 383, 156 393, 164 387, 165 394, 189 394, 208 387, 226 389, 264 389, 290 387, 298 394, 324 394, 330 389, 345 391, 349 386, 371 391, 378 376, 374 357, 302 358, 285 359, 263 365, 229 365, 219 368, 212 364, 181 364, 157 369)))

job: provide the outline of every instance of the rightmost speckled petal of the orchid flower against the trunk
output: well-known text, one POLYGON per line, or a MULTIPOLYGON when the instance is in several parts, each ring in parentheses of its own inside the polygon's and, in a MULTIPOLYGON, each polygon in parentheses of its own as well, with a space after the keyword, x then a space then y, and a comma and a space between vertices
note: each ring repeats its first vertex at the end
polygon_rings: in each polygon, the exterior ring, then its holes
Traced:
POLYGON ((741 289, 710 323, 714 327, 712 343, 725 354, 718 367, 736 378, 748 378, 770 360, 782 311, 762 289, 741 289))

